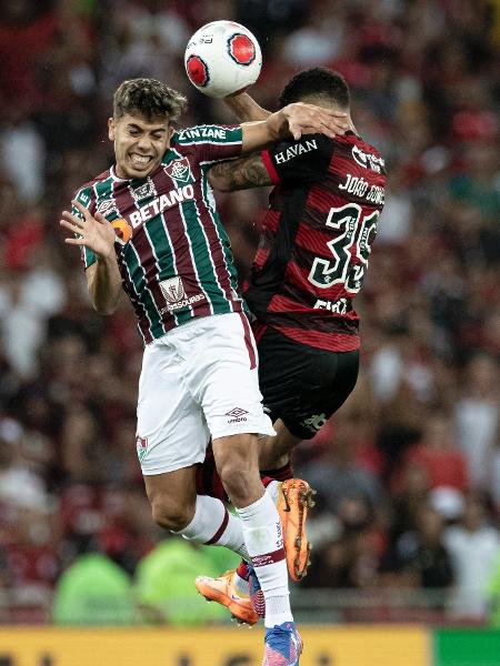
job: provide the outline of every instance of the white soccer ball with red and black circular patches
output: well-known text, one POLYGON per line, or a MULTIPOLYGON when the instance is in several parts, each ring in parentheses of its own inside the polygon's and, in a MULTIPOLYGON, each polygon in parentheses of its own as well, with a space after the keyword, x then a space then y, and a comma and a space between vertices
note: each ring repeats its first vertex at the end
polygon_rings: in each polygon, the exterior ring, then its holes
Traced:
POLYGON ((257 81, 262 67, 260 46, 250 30, 234 21, 212 21, 188 42, 184 65, 203 94, 224 98, 257 81))

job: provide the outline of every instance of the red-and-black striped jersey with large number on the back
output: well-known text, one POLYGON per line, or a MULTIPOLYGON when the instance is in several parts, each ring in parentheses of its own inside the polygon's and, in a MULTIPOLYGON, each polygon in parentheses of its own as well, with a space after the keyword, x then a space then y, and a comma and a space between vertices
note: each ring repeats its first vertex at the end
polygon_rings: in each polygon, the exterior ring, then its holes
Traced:
POLYGON ((310 346, 359 347, 352 300, 384 201, 386 167, 353 132, 307 134, 262 152, 276 183, 244 297, 267 325, 310 346))

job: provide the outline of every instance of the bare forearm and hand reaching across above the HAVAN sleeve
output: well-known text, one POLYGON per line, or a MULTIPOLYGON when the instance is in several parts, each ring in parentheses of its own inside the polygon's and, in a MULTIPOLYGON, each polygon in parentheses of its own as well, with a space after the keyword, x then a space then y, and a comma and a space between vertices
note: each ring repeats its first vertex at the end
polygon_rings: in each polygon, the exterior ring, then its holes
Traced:
POLYGON ((263 121, 242 123, 242 152, 253 152, 283 139, 300 139, 302 134, 321 133, 333 139, 349 129, 346 118, 332 109, 294 102, 268 115, 263 121))

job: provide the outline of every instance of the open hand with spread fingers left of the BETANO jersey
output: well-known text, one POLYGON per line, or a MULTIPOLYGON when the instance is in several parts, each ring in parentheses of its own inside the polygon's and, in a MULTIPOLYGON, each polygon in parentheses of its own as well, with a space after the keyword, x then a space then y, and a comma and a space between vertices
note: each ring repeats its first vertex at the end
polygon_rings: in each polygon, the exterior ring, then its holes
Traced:
POLYGON ((77 238, 64 239, 68 245, 84 245, 103 259, 114 256, 114 230, 101 213, 90 214, 80 202, 71 202, 83 215, 83 220, 68 211, 62 212, 60 225, 77 234, 77 238))

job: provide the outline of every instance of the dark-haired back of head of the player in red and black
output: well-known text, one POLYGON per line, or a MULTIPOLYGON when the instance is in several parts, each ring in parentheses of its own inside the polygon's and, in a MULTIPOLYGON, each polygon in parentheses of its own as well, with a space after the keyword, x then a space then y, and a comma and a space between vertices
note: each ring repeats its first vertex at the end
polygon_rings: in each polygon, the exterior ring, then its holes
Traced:
POLYGON ((333 105, 349 111, 349 87, 339 72, 323 67, 313 67, 296 74, 283 88, 279 108, 293 102, 333 105))

